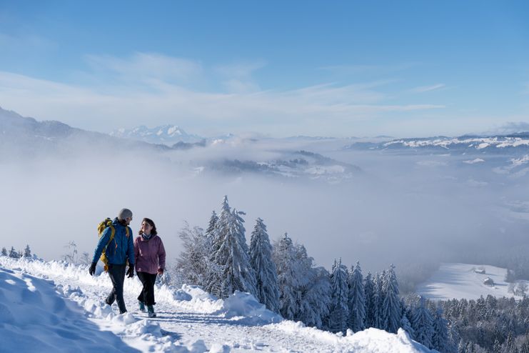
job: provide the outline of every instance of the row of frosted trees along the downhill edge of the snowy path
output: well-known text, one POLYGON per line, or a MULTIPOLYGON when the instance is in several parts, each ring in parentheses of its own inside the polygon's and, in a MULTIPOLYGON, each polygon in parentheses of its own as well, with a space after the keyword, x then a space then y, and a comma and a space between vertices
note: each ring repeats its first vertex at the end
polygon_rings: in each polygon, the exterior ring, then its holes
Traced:
POLYGON ((393 265, 364 278, 358 262, 348 270, 338 259, 328 272, 288 234, 271 244, 260 218, 248 247, 243 214, 224 197, 205 232, 187 225, 180 233, 183 252, 173 277, 223 299, 236 290, 249 292, 271 311, 308 326, 341 334, 368 327, 396 333, 402 327, 427 347, 456 352, 443 308, 401 299, 393 265))

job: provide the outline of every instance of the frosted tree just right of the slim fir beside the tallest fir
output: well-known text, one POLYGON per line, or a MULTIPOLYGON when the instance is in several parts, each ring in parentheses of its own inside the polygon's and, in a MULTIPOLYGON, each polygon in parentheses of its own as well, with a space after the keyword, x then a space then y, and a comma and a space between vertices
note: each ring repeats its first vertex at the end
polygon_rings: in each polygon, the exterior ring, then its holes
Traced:
POLYGON ((287 233, 274 244, 272 258, 278 273, 279 312, 292 320, 298 312, 298 277, 294 245, 287 233))

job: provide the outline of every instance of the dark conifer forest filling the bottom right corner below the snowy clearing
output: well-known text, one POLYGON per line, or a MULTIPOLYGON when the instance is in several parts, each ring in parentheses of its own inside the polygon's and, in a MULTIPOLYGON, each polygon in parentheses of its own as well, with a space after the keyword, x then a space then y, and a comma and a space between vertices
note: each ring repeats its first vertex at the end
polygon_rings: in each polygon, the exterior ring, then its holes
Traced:
POLYGON ((529 297, 439 302, 460 353, 529 353, 529 297))

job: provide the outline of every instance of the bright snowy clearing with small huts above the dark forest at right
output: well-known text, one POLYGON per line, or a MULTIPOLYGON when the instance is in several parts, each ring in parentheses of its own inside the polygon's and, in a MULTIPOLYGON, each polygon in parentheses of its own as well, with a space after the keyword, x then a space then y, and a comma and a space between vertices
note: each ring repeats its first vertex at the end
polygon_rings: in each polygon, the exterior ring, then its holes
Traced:
MULTIPOLYGON (((478 299, 488 294, 494 297, 515 297, 508 292, 506 269, 477 264, 441 264, 428 281, 417 287, 418 294, 430 299, 478 299), (480 273, 484 270, 485 273, 480 273), (486 278, 494 285, 484 284, 486 278)), ((520 298, 520 297, 518 297, 520 298)))

